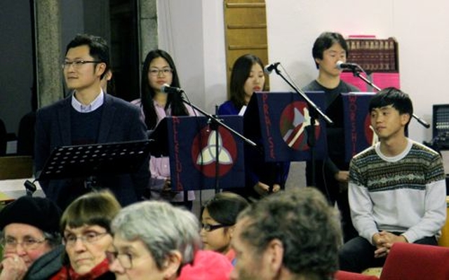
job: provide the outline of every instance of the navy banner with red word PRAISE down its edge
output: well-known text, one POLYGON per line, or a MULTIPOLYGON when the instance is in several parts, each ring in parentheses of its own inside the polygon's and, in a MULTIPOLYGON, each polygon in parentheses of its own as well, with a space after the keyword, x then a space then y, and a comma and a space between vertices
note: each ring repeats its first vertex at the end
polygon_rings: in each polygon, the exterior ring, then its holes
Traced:
MULTIPOLYGON (((316 107, 325 107, 323 92, 305 94, 316 107)), ((309 161, 311 147, 315 159, 323 159, 326 124, 315 115, 298 93, 257 92, 243 116, 244 135, 260 145, 265 161, 309 161)))

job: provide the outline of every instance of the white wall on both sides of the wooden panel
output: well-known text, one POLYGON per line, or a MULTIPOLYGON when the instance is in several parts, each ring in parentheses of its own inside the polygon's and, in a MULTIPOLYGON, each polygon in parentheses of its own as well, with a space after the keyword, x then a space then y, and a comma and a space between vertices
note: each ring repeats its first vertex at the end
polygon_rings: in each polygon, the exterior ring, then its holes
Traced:
MULTIPOLYGON (((182 85, 200 106, 212 113, 214 105, 226 99, 223 1, 163 2, 170 3, 170 36, 176 42, 171 47, 182 85)), ((266 3, 270 62, 281 62, 298 86, 316 77, 311 47, 321 32, 394 36, 399 44, 401 88, 413 98, 415 114, 431 124, 432 105, 449 103, 442 83, 449 62, 448 1, 266 0, 266 3)), ((159 34, 161 47, 167 43, 164 36, 168 35, 159 34)), ((272 91, 290 90, 274 75, 270 76, 270 86, 272 91)), ((410 137, 419 142, 431 140, 431 128, 412 121, 410 137)))

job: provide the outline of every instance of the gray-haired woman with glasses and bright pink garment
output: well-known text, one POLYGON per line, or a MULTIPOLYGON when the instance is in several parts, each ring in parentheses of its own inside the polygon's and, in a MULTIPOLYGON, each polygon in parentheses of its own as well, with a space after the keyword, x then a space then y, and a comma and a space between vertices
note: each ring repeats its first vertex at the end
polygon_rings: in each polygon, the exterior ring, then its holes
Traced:
POLYGON ((123 208, 111 225, 114 251, 107 251, 116 279, 228 279, 224 255, 201 251, 196 216, 165 201, 123 208))

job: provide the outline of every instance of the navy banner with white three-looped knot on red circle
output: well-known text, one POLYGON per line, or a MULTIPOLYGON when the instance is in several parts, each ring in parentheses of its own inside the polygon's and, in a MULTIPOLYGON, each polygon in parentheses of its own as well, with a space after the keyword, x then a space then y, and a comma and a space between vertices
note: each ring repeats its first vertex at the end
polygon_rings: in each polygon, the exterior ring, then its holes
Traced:
MULTIPOLYGON (((242 133, 242 116, 220 119, 242 133)), ((155 152, 162 149, 161 154, 170 157, 173 191, 244 187, 242 140, 223 126, 214 129, 206 116, 166 117, 150 140, 154 141, 155 152)))

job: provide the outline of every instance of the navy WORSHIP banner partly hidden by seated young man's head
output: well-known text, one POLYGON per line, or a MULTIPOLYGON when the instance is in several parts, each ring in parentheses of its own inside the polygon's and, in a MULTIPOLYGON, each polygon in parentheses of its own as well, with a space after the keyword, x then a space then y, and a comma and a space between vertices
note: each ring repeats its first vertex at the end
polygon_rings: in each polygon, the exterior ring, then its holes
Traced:
POLYGON ((368 107, 375 93, 342 93, 344 112, 345 159, 352 157, 377 142, 370 126, 368 107))

